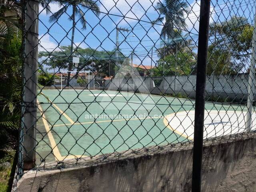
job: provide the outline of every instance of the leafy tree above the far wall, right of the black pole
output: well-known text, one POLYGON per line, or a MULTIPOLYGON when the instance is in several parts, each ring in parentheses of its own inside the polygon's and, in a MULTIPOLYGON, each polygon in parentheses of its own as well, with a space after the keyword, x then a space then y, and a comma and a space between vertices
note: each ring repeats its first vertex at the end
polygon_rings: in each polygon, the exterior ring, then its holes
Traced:
POLYGON ((253 26, 244 17, 232 16, 224 22, 210 24, 215 39, 208 47, 207 74, 236 74, 250 58, 253 26))

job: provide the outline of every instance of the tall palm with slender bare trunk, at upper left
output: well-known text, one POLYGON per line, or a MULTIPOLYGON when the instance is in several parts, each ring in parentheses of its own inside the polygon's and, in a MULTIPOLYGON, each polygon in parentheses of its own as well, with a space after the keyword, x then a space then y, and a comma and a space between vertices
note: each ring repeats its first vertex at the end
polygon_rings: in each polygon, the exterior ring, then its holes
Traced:
MULTIPOLYGON (((68 10, 69 7, 72 8, 72 15, 70 16, 69 20, 72 21, 72 36, 71 36, 71 44, 70 44, 70 62, 68 65, 68 70, 72 70, 72 54, 73 54, 73 46, 74 46, 74 33, 75 33, 75 27, 76 27, 76 16, 79 17, 78 20, 80 20, 80 23, 82 24, 82 30, 86 30, 86 18, 84 12, 82 12, 82 9, 85 10, 92 10, 96 16, 100 15, 100 8, 96 4, 96 1, 94 0, 54 0, 54 2, 58 3, 60 6, 63 6, 52 14, 49 18, 49 22, 56 22, 64 12, 68 10)), ((70 81, 70 72, 68 72, 68 79, 67 79, 67 86, 69 86, 70 81)))

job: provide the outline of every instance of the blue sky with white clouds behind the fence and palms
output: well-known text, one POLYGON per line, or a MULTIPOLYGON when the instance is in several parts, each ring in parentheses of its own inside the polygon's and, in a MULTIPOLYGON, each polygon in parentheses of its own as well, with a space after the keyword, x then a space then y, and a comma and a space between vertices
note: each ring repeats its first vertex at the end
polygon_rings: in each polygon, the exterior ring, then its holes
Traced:
MULTIPOLYGON (((163 2, 162 0, 161 2, 163 2)), ((182 0, 181 0, 182 1, 182 0)), ((159 0, 98 0, 100 16, 91 10, 81 9, 85 13, 86 30, 78 21, 76 24, 74 44, 81 48, 96 50, 114 50, 116 46, 116 27, 126 28, 128 32, 119 32, 118 42, 122 54, 130 58, 134 50, 134 64, 154 66, 159 59, 156 48, 162 46, 160 32, 163 23, 152 26, 159 16, 156 10, 159 0), (151 59, 151 50, 153 57, 151 59)), ((198 41, 200 0, 187 0, 189 12, 185 13, 186 29, 182 34, 192 40, 194 45, 198 41)), ((233 15, 245 16, 249 22, 253 21, 254 0, 212 0, 210 23, 222 22, 233 15)), ((61 7, 50 4, 51 12, 61 7)), ((59 46, 70 45, 72 22, 68 20, 72 9, 68 10, 55 23, 48 21, 51 14, 46 14, 40 7, 39 14, 39 51, 60 51, 59 46)), ((78 17, 77 17, 78 18, 78 17)), ((209 43, 211 42, 211 37, 209 43)), ((195 51, 195 50, 194 50, 195 51)))

